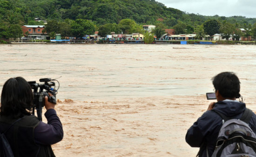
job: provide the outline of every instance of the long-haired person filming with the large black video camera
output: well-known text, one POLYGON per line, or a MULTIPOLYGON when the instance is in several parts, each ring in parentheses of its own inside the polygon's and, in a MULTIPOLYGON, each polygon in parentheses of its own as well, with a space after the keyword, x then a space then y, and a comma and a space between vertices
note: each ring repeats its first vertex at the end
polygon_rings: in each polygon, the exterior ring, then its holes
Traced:
POLYGON ((45 96, 46 124, 32 114, 33 99, 32 89, 24 78, 8 79, 1 93, 0 132, 6 132, 14 157, 55 157, 51 144, 63 138, 55 104, 45 96))

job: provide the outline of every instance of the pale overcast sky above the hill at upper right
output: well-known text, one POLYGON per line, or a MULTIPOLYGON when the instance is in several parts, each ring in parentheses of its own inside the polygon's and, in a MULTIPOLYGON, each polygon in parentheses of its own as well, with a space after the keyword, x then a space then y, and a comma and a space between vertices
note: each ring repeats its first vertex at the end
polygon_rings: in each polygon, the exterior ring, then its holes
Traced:
POLYGON ((256 18, 256 0, 155 0, 186 13, 256 18))

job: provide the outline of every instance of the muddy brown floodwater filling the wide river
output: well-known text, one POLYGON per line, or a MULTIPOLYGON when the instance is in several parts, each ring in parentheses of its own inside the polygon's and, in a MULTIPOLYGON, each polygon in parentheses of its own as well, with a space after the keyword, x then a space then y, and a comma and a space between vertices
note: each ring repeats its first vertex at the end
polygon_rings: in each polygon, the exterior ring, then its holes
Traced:
POLYGON ((255 52, 255 45, 0 44, 0 90, 10 77, 58 78, 58 157, 195 156, 185 135, 212 102, 205 93, 214 75, 235 72, 256 112, 255 52))

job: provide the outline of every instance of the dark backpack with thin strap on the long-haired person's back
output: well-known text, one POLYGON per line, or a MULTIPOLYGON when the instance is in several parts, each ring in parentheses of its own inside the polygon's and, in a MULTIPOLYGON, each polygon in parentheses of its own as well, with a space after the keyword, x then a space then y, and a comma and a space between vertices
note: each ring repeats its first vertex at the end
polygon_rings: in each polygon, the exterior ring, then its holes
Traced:
MULTIPOLYGON (((13 124, 19 121, 20 119, 13 122, 13 124)), ((5 137, 5 133, 13 126, 13 124, 9 126, 5 132, 0 133, 0 157, 14 157, 12 148, 7 138, 5 137)))

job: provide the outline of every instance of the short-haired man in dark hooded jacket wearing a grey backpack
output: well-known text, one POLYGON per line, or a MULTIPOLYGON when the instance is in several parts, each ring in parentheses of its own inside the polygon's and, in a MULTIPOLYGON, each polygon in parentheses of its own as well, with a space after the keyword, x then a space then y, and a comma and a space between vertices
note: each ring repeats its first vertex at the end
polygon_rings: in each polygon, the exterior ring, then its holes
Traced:
MULTIPOLYGON (((232 72, 222 72, 212 78, 217 102, 212 102, 201 117, 186 134, 186 142, 191 147, 200 147, 199 157, 211 157, 216 146, 218 134, 223 124, 222 116, 229 119, 242 119, 246 109, 240 98, 240 81, 232 72)), ((256 133, 256 115, 250 112, 249 127, 256 133)), ((239 146, 239 145, 238 145, 239 146)))

